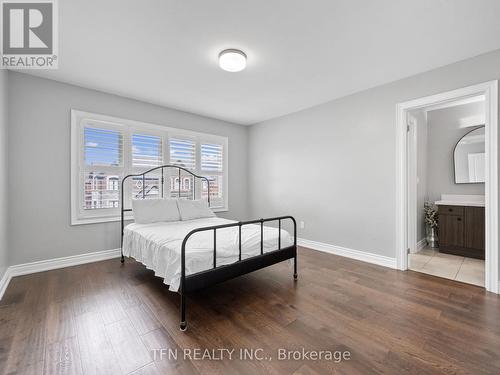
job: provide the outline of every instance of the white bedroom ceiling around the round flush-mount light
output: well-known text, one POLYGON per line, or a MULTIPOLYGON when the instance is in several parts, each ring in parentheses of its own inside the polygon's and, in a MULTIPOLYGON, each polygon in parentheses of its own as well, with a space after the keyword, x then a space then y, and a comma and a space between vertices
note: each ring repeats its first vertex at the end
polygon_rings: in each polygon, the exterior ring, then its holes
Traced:
POLYGON ((62 0, 59 70, 31 71, 253 124, 500 48, 497 0, 62 0), (240 73, 218 53, 248 55, 240 73))

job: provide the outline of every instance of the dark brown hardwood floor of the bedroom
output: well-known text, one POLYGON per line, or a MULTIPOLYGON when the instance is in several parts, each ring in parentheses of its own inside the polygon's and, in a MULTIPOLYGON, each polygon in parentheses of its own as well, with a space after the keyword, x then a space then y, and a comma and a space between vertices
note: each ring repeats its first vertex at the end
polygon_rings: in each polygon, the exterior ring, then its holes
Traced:
POLYGON ((500 374, 500 298, 412 271, 300 249, 297 283, 282 263, 191 296, 185 333, 178 304, 132 260, 16 277, 0 302, 0 371, 500 374), (178 359, 161 359, 160 348, 178 359), (196 348, 236 352, 233 360, 183 358, 196 348), (270 359, 240 359, 240 348, 270 359), (279 348, 351 358, 278 360, 279 348))

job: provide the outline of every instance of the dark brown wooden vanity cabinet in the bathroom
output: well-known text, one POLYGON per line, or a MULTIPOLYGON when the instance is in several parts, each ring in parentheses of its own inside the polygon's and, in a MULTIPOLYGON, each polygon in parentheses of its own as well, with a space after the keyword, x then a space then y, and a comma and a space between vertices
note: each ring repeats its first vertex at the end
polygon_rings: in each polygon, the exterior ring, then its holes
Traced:
POLYGON ((484 207, 438 206, 439 251, 484 259, 484 207))

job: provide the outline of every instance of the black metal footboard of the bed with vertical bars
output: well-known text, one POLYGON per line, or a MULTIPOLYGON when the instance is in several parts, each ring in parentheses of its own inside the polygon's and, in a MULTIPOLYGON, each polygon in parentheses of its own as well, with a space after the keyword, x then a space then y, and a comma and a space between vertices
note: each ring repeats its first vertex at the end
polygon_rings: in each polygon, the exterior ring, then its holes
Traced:
POLYGON ((238 223, 215 225, 211 227, 197 228, 189 232, 182 241, 181 247, 181 282, 179 293, 181 295, 181 324, 182 331, 187 329, 186 322, 186 294, 198 289, 241 276, 258 269, 271 266, 287 259, 294 259, 293 277, 297 280, 297 223, 292 216, 279 216, 268 219, 240 221, 238 223), (283 220, 291 220, 293 223, 293 245, 281 248, 281 222, 283 220), (278 249, 264 253, 264 223, 278 222, 278 249), (260 254, 242 259, 241 256, 241 227, 249 224, 260 224, 260 254), (238 261, 217 266, 217 230, 231 227, 239 227, 239 256, 238 261), (213 250, 213 267, 209 270, 197 272, 195 274, 186 275, 186 243, 189 238, 199 232, 213 231, 214 233, 214 250, 213 250))

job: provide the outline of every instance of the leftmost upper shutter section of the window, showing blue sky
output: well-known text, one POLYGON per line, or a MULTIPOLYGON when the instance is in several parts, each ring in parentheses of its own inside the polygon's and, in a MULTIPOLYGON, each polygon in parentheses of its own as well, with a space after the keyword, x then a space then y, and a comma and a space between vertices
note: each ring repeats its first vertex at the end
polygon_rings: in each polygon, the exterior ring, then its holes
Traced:
POLYGON ((118 130, 84 128, 85 165, 95 167, 120 166, 123 158, 123 135, 118 130))

